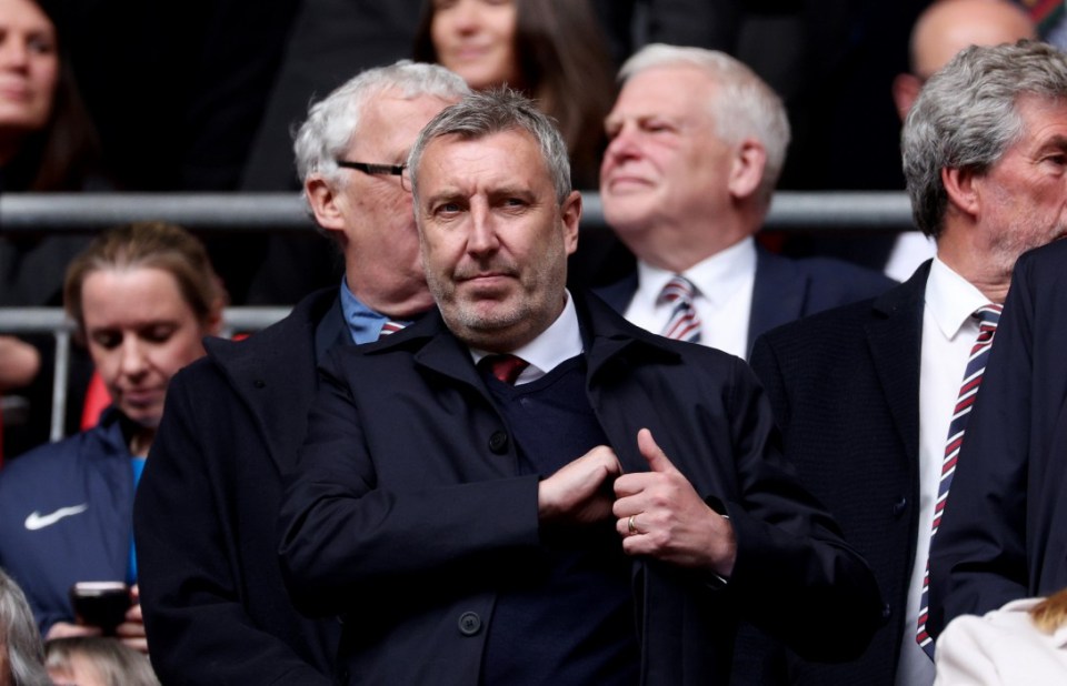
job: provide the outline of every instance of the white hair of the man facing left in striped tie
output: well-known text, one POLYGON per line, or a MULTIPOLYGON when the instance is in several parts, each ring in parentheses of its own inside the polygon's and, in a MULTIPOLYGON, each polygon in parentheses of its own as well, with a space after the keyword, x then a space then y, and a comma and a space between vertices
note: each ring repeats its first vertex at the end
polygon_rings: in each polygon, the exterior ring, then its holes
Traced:
POLYGON ((715 82, 708 111, 720 139, 737 144, 754 138, 762 143, 767 164, 759 191, 769 203, 789 147, 789 119, 781 98, 756 72, 725 52, 664 43, 637 51, 619 69, 619 80, 625 83, 645 70, 679 64, 701 69, 715 82))

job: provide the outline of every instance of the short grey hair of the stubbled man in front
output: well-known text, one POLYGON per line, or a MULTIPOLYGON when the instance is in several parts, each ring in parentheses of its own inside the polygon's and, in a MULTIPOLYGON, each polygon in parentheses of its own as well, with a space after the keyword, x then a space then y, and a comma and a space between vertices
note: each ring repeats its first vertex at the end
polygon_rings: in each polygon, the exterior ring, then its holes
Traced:
POLYGON ((419 198, 419 162, 431 141, 446 135, 478 140, 505 131, 525 131, 537 141, 552 178, 556 201, 564 204, 571 191, 567 143, 551 118, 538 110, 532 100, 506 87, 471 93, 441 110, 426 124, 408 155, 416 202, 419 198))

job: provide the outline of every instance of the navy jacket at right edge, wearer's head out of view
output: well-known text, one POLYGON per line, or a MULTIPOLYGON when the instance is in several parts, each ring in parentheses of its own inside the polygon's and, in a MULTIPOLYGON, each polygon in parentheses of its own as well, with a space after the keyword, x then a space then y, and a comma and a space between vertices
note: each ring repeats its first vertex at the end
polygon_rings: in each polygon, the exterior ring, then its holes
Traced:
POLYGON ((930 553, 930 618, 1067 586, 1067 242, 1019 258, 930 553))

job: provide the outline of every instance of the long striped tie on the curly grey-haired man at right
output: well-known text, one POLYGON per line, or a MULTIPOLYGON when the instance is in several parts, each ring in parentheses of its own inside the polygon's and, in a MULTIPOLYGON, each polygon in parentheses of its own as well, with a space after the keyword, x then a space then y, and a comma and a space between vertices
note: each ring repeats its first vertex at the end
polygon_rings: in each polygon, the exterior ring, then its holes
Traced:
MULTIPOLYGON (((934 503, 934 527, 930 529, 930 543, 937 534, 937 527, 941 524, 941 515, 945 514, 945 502, 948 500, 948 490, 953 485, 953 474, 956 473, 956 458, 959 456, 959 447, 964 443, 964 432, 967 430, 967 420, 970 417, 970 408, 978 395, 978 386, 981 385, 981 375, 986 371, 986 361, 989 359, 989 349, 993 347, 993 336, 997 332, 997 323, 1000 321, 1000 305, 989 304, 975 311, 974 317, 978 320, 978 339, 974 347, 970 349, 970 357, 967 360, 967 369, 964 372, 964 382, 959 387, 959 395, 956 397, 956 407, 953 411, 953 418, 948 424, 948 443, 945 446, 945 458, 941 461, 941 478, 937 486, 937 502, 934 503)), ((923 596, 919 601, 919 627, 916 640, 923 650, 934 659, 934 640, 926 630, 926 619, 929 616, 930 599, 930 559, 927 556, 926 572, 923 574, 923 596)))

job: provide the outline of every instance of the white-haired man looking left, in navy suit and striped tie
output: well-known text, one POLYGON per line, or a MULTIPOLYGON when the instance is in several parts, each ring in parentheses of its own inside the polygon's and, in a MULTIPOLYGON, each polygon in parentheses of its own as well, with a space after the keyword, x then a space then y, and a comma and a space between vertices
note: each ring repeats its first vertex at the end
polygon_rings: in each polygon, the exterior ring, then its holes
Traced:
POLYGON ((774 326, 893 285, 844 262, 757 248, 789 124, 751 70, 721 52, 654 44, 619 75, 600 196, 637 264, 597 293, 626 319, 745 357, 774 326))

